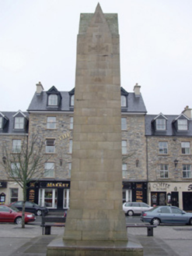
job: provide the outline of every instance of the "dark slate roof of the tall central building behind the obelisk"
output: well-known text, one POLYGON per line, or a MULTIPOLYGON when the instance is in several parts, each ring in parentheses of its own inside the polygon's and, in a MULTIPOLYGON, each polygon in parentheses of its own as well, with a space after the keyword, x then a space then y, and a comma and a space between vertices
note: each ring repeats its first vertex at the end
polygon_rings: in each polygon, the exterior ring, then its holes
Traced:
MULTIPOLYGON (((72 90, 73 91, 73 90, 72 90)), ((35 93, 33 99, 30 102, 27 111, 61 111, 61 112, 72 112, 73 107, 70 106, 70 94, 72 91, 60 91, 61 93, 61 105, 58 107, 47 106, 47 92, 42 91, 41 94, 35 93)), ((124 91, 121 88, 121 91, 124 91)), ((75 92, 75 91, 74 91, 75 92)), ((135 96, 134 93, 127 93, 127 107, 121 108, 122 112, 143 112, 146 113, 145 104, 143 98, 135 96)))

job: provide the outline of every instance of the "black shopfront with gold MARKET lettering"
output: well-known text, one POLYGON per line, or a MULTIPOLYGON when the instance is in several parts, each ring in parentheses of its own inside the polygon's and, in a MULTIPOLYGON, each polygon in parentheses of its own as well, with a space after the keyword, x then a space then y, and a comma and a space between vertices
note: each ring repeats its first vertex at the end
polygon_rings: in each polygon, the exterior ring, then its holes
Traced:
POLYGON ((49 209, 69 208, 70 181, 30 182, 27 201, 33 201, 49 209))

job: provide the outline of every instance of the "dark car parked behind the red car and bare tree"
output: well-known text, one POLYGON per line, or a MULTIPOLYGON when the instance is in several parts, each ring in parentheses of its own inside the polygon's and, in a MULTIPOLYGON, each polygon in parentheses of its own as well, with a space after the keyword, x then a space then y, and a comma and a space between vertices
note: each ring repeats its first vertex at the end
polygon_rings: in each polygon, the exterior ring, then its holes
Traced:
MULTIPOLYGON (((9 205, 12 205, 12 206, 18 208, 19 211, 22 211, 22 209, 23 209, 23 201, 16 201, 9 205)), ((42 212, 44 212, 44 215, 47 215, 47 213, 49 212, 49 210, 46 207, 42 207, 42 206, 35 204, 33 202, 30 202, 30 201, 26 201, 25 210, 26 210, 26 212, 33 212, 35 215, 38 215, 38 216, 42 215, 42 212)))

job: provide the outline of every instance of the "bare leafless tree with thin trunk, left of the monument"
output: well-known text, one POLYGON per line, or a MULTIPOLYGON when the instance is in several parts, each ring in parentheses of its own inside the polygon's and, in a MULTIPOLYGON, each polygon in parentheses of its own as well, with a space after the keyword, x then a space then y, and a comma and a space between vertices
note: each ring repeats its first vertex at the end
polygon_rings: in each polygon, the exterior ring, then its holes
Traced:
POLYGON ((42 152, 44 143, 37 136, 29 141, 28 137, 21 140, 13 154, 10 154, 8 141, 4 141, 2 152, 4 154, 2 165, 9 179, 14 180, 23 190, 22 228, 25 227, 25 205, 27 184, 31 180, 39 180, 44 175, 44 158, 42 152))

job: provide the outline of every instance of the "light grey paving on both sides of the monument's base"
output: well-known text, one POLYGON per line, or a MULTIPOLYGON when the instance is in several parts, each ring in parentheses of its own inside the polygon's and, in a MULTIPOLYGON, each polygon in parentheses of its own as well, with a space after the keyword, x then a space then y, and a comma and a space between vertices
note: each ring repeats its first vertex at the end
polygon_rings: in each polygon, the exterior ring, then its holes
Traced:
MULTIPOLYGON (((127 229, 144 247, 144 256, 190 256, 192 253, 191 226, 158 226, 154 236, 147 229, 127 229)), ((42 236, 42 228, 31 224, 25 229, 14 224, 0 224, 0 256, 46 256, 47 244, 64 233, 63 227, 52 227, 50 236, 42 236)))

